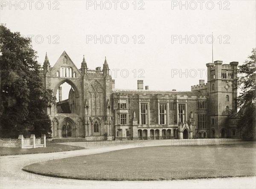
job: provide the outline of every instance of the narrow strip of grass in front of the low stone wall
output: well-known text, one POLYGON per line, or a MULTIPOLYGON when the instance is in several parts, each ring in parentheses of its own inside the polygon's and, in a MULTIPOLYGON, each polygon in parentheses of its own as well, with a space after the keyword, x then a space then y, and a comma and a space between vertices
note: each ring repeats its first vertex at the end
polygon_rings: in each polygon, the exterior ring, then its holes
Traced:
POLYGON ((50 143, 49 141, 47 141, 46 148, 21 149, 21 148, 0 147, 0 155, 37 154, 37 153, 49 153, 49 152, 63 152, 63 151, 78 150, 78 149, 84 149, 84 147, 50 143))

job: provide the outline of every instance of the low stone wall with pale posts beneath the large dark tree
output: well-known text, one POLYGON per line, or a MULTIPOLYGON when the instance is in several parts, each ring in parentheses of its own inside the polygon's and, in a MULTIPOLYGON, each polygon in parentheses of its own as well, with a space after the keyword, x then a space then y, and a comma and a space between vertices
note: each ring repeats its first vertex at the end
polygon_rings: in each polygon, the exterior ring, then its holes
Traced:
POLYGON ((41 135, 41 138, 35 138, 35 135, 30 135, 30 138, 24 138, 23 135, 19 135, 18 139, 0 139, 0 147, 42 148, 46 147, 46 136, 41 135))

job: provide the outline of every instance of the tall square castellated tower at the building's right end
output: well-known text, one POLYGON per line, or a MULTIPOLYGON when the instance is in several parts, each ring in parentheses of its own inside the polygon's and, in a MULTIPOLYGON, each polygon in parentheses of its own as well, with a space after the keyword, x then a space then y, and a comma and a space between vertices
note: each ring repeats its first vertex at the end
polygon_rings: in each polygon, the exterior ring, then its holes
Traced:
POLYGON ((237 113, 237 65, 222 61, 207 63, 207 93, 209 95, 209 131, 211 137, 232 136, 229 116, 237 113))

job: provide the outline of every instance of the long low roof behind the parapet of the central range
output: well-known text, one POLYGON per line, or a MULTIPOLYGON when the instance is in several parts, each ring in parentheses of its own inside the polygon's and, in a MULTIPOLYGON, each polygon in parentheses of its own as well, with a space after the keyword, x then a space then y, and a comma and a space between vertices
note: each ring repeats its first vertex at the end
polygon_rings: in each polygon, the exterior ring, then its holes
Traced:
POLYGON ((169 95, 187 95, 188 97, 197 96, 204 97, 205 95, 197 91, 164 91, 164 90, 139 90, 139 89, 112 89, 113 93, 127 93, 127 94, 169 94, 169 95))

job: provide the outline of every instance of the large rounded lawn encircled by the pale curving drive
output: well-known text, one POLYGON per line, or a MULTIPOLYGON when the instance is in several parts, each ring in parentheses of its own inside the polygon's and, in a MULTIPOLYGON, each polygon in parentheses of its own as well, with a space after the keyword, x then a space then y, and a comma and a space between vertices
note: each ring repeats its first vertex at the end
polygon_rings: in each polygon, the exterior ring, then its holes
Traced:
POLYGON ((23 170, 84 180, 227 180, 256 175, 255 147, 255 143, 140 147, 49 160, 25 166, 23 170))

